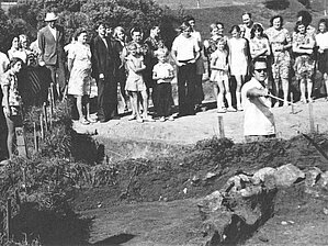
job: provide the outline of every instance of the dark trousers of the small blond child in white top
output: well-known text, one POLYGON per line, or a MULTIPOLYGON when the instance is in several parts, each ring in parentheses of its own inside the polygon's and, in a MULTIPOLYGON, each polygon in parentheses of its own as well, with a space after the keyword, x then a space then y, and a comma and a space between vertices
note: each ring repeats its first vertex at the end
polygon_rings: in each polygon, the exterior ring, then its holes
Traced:
POLYGON ((158 116, 171 114, 172 87, 169 82, 161 82, 156 86, 156 104, 158 116))

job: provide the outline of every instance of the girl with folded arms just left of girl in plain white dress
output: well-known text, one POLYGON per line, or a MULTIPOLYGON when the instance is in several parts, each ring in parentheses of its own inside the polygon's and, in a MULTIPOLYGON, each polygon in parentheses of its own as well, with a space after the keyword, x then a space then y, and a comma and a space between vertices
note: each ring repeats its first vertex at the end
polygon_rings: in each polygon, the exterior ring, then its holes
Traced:
POLYGON ((211 68, 212 68, 212 79, 217 82, 218 94, 217 94, 217 112, 225 113, 226 109, 224 107, 224 97, 228 102, 229 112, 236 112, 231 103, 231 93, 229 89, 229 78, 228 78, 228 52, 225 49, 226 41, 219 38, 216 43, 217 49, 211 56, 211 68))

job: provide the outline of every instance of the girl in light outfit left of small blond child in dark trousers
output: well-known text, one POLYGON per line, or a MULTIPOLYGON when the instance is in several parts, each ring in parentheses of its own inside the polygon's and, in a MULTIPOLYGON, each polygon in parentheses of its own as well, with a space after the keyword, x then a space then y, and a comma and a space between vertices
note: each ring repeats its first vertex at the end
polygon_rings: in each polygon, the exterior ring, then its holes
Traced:
POLYGON ((127 48, 129 54, 125 58, 128 72, 125 90, 132 97, 132 104, 135 111, 135 115, 132 116, 136 118, 138 123, 143 123, 144 121, 152 122, 154 120, 148 115, 148 97, 142 75, 142 71, 146 69, 144 56, 137 52, 138 47, 135 43, 132 43, 127 48), (143 98, 143 118, 139 110, 138 93, 142 93, 143 98))

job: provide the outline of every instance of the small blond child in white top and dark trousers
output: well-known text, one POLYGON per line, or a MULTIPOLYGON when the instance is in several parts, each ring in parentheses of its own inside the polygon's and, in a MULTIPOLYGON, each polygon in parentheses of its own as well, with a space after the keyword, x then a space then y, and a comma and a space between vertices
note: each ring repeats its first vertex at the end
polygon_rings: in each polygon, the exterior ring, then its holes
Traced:
POLYGON ((158 64, 154 66, 152 79, 157 80, 157 113, 160 122, 165 122, 166 118, 173 121, 171 115, 171 81, 174 77, 174 70, 167 62, 168 52, 166 49, 159 49, 156 55, 158 64))

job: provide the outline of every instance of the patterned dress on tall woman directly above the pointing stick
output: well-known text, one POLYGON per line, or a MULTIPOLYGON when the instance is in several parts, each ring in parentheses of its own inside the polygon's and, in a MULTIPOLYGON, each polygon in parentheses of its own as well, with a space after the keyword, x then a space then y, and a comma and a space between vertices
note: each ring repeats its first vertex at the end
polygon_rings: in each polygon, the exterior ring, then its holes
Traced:
POLYGON ((283 46, 291 44, 292 38, 286 29, 276 30, 273 26, 265 30, 273 53, 272 74, 274 79, 289 79, 291 55, 283 46))

